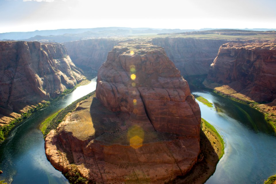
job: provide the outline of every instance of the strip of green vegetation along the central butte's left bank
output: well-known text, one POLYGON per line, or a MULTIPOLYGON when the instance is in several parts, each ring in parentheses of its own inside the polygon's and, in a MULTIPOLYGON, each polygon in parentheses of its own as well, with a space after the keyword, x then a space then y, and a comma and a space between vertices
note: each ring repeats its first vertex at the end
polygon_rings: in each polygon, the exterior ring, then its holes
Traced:
MULTIPOLYGON (((64 108, 63 110, 61 110, 60 112, 58 112, 52 119, 51 121, 49 120, 47 127, 45 127, 44 130, 44 136, 46 136, 51 130, 56 129, 58 124, 60 124, 62 122, 62 120, 65 118, 65 116, 69 113, 69 112, 73 112, 77 106, 77 104, 89 97, 91 97, 92 95, 95 94, 95 91, 85 95, 84 97, 81 97, 80 99, 77 99, 76 101, 72 102, 72 104, 70 104, 69 106, 67 106, 66 108, 64 108)), ((50 118, 50 117, 49 117, 50 118)))

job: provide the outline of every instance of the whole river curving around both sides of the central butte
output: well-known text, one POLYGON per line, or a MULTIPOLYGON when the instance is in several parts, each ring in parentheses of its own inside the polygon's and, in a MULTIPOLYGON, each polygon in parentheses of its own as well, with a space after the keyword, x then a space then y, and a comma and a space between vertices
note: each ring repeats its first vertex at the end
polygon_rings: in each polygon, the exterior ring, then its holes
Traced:
MULTIPOLYGON (((189 83, 190 84, 190 83, 189 83)), ((53 112, 94 91, 96 81, 78 87, 73 93, 58 97, 51 106, 35 112, 11 131, 0 145, 0 180, 12 183, 68 183, 61 172, 47 160, 39 124, 53 112)), ((225 141, 225 154, 207 184, 263 183, 276 174, 276 136, 264 116, 245 104, 231 101, 215 93, 191 87, 194 94, 214 104, 208 108, 199 103, 202 118, 210 122, 225 141)))

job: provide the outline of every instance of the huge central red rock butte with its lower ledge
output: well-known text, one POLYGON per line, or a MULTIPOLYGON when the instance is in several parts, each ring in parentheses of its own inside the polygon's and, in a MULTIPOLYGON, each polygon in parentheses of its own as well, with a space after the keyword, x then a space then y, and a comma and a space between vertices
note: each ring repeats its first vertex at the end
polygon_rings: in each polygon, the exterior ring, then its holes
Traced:
POLYGON ((63 173, 74 163, 98 183, 164 183, 196 163, 200 120, 187 81, 164 49, 121 43, 99 69, 96 97, 47 135, 45 152, 63 173))

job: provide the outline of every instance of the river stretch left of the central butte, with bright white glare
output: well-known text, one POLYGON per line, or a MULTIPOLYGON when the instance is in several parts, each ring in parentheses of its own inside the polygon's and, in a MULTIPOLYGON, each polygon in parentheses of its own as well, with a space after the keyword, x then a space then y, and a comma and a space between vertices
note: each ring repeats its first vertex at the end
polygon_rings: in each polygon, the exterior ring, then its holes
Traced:
POLYGON ((15 127, 0 145, 0 180, 8 183, 69 183, 45 156, 44 139, 38 129, 40 123, 54 112, 96 89, 96 78, 72 93, 58 97, 51 105, 33 113, 28 120, 15 127))

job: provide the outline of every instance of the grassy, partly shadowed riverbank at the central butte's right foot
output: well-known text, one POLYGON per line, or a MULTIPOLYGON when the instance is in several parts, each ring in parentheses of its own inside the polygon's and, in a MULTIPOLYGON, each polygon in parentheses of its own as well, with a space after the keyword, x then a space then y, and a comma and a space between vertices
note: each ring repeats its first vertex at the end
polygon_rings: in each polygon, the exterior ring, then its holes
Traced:
POLYGON ((191 171, 183 177, 175 179, 173 184, 202 184, 205 183, 216 170, 218 161, 224 154, 224 141, 216 129, 206 120, 201 119, 200 155, 198 162, 191 171))

